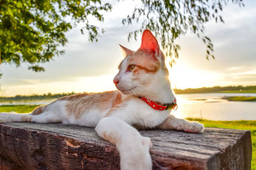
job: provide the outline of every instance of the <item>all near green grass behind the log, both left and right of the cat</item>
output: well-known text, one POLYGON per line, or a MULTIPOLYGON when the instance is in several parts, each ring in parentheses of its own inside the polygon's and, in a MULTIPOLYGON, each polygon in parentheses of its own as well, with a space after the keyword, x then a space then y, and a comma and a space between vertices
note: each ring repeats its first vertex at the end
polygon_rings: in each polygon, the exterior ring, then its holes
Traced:
MULTIPOLYGON (((29 113, 32 111, 36 105, 4 105, 0 106, 0 112, 10 112, 15 111, 17 113, 29 113)), ((212 121, 212 120, 203 120, 188 118, 188 120, 193 120, 200 122, 205 125, 205 127, 220 127, 227 129, 241 129, 241 130, 250 130, 252 134, 252 147, 253 147, 253 156, 252 156, 252 169, 256 169, 256 120, 239 120, 239 121, 212 121)))

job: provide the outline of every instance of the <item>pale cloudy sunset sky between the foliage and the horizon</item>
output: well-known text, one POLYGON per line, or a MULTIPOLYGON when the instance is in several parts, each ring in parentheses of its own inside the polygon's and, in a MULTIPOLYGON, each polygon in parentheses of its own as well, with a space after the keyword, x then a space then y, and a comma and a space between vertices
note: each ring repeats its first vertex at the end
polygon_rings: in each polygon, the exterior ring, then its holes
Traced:
MULTIPOLYGON (((205 59, 205 45, 193 34, 181 36, 179 59, 170 71, 172 88, 186 89, 216 85, 256 85, 256 1, 244 1, 245 7, 228 4, 221 15, 225 24, 214 21, 205 25, 205 35, 214 44, 215 60, 205 59)), ((28 64, 16 67, 1 64, 0 96, 47 94, 51 92, 102 92, 115 90, 113 78, 124 58, 119 44, 137 50, 141 39, 128 41, 129 32, 140 24, 122 25, 122 18, 132 13, 138 1, 116 1, 111 13, 98 24, 105 33, 97 43, 81 34, 79 25, 67 32, 65 54, 41 64, 45 72, 35 73, 28 64)))

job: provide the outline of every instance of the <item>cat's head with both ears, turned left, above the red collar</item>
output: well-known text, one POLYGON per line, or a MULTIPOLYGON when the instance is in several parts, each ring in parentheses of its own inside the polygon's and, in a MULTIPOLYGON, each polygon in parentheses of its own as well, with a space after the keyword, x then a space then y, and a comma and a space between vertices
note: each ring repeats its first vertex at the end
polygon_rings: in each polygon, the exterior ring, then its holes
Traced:
POLYGON ((164 53, 154 35, 146 29, 142 34, 141 46, 136 52, 120 46, 125 52, 125 59, 119 64, 119 72, 113 80, 116 88, 122 94, 158 101, 169 97, 168 101, 172 102, 175 97, 170 87, 164 53))

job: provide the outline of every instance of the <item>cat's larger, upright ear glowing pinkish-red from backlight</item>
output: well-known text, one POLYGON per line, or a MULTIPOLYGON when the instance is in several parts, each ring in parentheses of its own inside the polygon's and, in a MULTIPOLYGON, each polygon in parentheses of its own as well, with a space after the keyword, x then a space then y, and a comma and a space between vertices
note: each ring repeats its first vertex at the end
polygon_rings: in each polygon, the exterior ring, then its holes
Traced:
POLYGON ((147 50, 153 53, 159 54, 159 45, 154 35, 146 29, 142 33, 140 50, 147 50))

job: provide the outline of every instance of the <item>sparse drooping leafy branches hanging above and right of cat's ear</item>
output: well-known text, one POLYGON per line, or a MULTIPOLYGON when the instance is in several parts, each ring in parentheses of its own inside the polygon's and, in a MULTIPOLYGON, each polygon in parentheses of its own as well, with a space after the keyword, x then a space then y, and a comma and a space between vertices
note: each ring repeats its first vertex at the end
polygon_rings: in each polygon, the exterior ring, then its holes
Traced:
MULTIPOLYGON (((137 38, 138 33, 144 29, 154 31, 157 38, 161 39, 161 45, 166 52, 166 56, 179 57, 180 46, 174 40, 188 31, 196 34, 206 45, 206 58, 214 59, 213 44, 209 37, 205 36, 205 24, 210 20, 216 23, 224 23, 220 12, 223 6, 228 4, 228 0, 141 0, 140 8, 135 8, 131 15, 124 18, 123 24, 132 24, 143 20, 140 29, 130 32, 128 39, 137 38)), ((243 0, 232 0, 234 4, 244 6, 243 0)), ((175 60, 172 58, 170 65, 175 60)))

